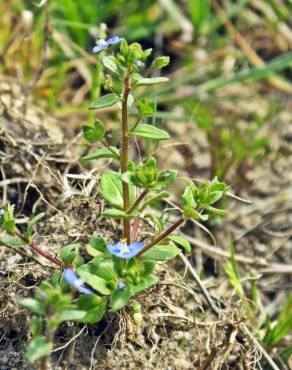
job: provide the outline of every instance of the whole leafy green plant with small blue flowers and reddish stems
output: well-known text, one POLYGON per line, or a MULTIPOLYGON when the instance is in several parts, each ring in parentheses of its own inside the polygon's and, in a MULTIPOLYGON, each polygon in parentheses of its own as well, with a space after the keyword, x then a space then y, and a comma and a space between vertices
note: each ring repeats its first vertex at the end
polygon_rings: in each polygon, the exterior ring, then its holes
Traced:
MULTIPOLYGON (((108 73, 103 81, 108 93, 94 101, 89 109, 113 105, 120 108, 121 145, 112 146, 106 139, 105 125, 95 120, 84 125, 83 132, 87 142, 97 142, 100 146, 81 160, 83 163, 101 158, 113 160, 112 168, 116 170, 106 169, 101 174, 100 194, 107 205, 103 216, 115 219, 117 225, 121 221, 121 239, 110 242, 102 236, 94 236, 85 246, 86 259, 80 244, 64 246, 60 258, 56 258, 32 242, 33 225, 41 216, 35 217, 24 233, 16 227, 13 207, 9 206, 1 218, 2 228, 14 235, 13 239, 7 239, 7 245, 10 243, 15 248, 29 245, 62 270, 62 273, 54 275, 52 283, 43 282, 34 298, 21 301, 23 306, 38 315, 30 321, 33 340, 27 357, 31 362, 40 360, 43 369, 58 325, 72 320, 94 324, 107 310, 121 309, 132 297, 157 282, 157 261, 173 259, 182 251, 191 252, 186 240, 173 235, 179 227, 188 219, 206 221, 210 215, 226 214, 225 210, 214 206, 228 188, 216 178, 199 185, 186 181, 181 197, 181 214, 173 224, 166 225, 162 217, 151 214, 150 206, 169 196, 166 189, 175 181, 177 171, 160 170, 157 160, 151 155, 153 143, 156 147, 170 136, 165 130, 148 123, 148 118, 155 116, 155 105, 152 101, 139 99, 137 92, 143 86, 167 82, 165 77, 151 78, 151 73, 167 66, 169 58, 158 57, 150 63, 151 49, 142 50, 138 43, 128 45, 119 36, 99 40, 94 52, 98 53, 98 59, 108 73), (118 51, 114 51, 118 46, 118 51), (136 119, 132 123, 129 117, 133 116, 136 119), (135 138, 139 138, 140 152, 145 153, 138 162, 129 160, 129 145, 135 138), (144 144, 147 144, 147 150, 144 144), (157 232, 153 230, 153 237, 145 242, 141 240, 137 225, 140 223, 143 228, 143 220, 147 217, 154 221, 157 232), (73 296, 77 297, 74 303, 73 296)), ((139 303, 135 301, 132 308, 135 322, 141 323, 139 303)))

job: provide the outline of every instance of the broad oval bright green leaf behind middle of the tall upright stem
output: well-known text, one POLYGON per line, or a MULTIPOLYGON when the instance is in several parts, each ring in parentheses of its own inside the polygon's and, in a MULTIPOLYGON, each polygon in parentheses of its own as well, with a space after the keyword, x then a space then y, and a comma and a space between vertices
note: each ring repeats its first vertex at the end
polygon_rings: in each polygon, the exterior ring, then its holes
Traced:
MULTIPOLYGON (((123 209, 123 186, 121 175, 114 171, 104 171, 100 179, 101 194, 104 199, 116 208, 123 209)), ((135 201, 135 186, 129 184, 130 203, 135 201)))

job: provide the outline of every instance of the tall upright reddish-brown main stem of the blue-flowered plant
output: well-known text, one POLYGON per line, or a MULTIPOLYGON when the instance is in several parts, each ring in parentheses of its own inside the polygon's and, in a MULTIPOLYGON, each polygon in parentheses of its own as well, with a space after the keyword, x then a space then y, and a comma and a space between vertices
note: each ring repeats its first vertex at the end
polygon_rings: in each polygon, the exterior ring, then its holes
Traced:
MULTIPOLYGON (((128 127, 128 97, 130 93, 130 79, 126 76, 124 80, 124 93, 122 103, 122 152, 121 152, 121 173, 128 171, 128 159, 129 159, 129 127, 128 127)), ((124 211, 130 208, 130 196, 129 196, 129 185, 123 181, 123 199, 124 199, 124 211)), ((123 220, 123 237, 130 242, 131 239, 131 224, 130 220, 123 220)))

